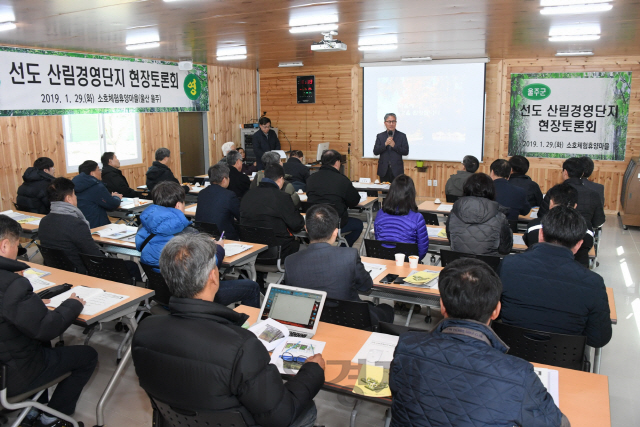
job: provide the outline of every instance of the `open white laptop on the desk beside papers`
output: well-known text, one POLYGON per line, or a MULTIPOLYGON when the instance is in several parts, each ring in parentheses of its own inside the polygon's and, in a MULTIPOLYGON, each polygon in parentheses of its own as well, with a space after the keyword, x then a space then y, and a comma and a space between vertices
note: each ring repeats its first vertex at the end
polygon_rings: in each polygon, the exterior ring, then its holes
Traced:
POLYGON ((327 293, 271 283, 258 321, 271 318, 289 329, 289 336, 312 338, 316 334, 327 293))

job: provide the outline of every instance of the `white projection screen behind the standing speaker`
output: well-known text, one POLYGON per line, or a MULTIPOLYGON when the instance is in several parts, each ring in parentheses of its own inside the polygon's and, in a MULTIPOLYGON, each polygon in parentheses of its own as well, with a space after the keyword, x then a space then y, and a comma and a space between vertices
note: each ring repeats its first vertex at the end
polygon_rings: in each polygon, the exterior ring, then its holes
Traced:
POLYGON ((364 68, 364 157, 376 158, 384 115, 395 113, 407 135, 407 160, 482 159, 485 64, 428 64, 364 68))

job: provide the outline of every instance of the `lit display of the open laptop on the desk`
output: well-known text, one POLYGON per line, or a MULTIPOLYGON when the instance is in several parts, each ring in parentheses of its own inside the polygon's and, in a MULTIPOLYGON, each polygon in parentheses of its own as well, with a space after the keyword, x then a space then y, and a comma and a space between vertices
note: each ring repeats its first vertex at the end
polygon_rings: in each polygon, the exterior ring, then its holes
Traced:
POLYGON ((260 320, 272 318, 285 325, 313 329, 321 301, 322 294, 272 286, 260 320))

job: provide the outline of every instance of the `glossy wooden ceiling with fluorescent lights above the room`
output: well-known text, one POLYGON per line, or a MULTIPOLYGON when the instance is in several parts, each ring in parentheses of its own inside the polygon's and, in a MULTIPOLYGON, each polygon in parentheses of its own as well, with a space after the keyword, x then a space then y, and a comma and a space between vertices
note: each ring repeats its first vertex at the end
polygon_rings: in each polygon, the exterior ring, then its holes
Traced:
POLYGON ((0 0, 0 44, 61 49, 241 68, 395 61, 403 56, 468 58, 552 57, 558 50, 593 49, 597 56, 640 55, 640 0, 613 0, 613 9, 543 16, 539 0, 0 0), (316 33, 290 34, 289 19, 337 13, 346 52, 312 52, 316 33), (9 18, 10 19, 10 18, 9 18), (600 25, 598 41, 552 43, 552 26, 600 25), (127 40, 159 36, 160 47, 127 51, 127 40), (364 36, 395 35, 398 49, 358 51, 364 36), (221 47, 246 45, 242 61, 216 60, 221 47))

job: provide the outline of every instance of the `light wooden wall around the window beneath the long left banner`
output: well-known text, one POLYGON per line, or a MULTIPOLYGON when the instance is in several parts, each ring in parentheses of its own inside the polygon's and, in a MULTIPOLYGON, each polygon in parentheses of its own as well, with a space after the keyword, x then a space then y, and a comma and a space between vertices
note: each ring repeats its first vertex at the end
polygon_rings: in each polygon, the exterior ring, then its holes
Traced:
MULTIPOLYGON (((169 148, 169 167, 180 176, 178 113, 140 114, 142 163, 123 166, 131 187, 146 182, 145 172, 154 160, 155 150, 169 148)), ((0 210, 14 209, 13 202, 22 184, 22 174, 38 157, 50 157, 56 176, 66 173, 64 134, 61 116, 0 117, 0 210)), ((100 159, 91 159, 100 163, 100 159)), ((178 178, 179 179, 179 178, 178 178)))

